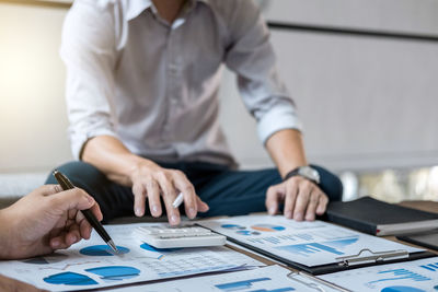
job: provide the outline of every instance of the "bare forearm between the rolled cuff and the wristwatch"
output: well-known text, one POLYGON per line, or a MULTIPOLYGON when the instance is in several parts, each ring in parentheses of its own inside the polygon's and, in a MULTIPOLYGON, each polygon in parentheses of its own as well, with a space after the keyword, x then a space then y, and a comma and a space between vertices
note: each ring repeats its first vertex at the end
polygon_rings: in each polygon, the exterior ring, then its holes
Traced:
POLYGON ((298 130, 275 132, 267 140, 266 149, 283 177, 291 170, 308 164, 301 132, 298 130))

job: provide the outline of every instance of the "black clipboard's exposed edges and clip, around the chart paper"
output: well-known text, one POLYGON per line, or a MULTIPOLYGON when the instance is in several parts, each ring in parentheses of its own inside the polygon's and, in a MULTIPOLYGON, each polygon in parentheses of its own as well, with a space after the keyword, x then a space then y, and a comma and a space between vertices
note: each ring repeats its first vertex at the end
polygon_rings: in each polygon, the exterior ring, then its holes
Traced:
POLYGON ((262 255, 269 257, 272 259, 275 259, 281 264, 285 264, 288 267, 304 270, 314 276, 331 273, 331 272, 336 272, 336 271, 345 271, 345 270, 349 270, 349 269, 357 269, 357 268, 369 267, 369 266, 410 261, 410 260, 414 260, 414 259, 422 259, 422 258, 428 258, 428 257, 436 256, 434 253, 427 252, 427 250, 416 252, 416 253, 408 253, 404 249, 388 250, 388 252, 373 252, 370 248, 364 248, 356 255, 337 257, 336 262, 309 267, 303 264, 300 264, 300 262, 280 257, 278 255, 272 254, 262 248, 257 248, 253 245, 240 242, 235 238, 227 236, 227 240, 234 244, 243 246, 250 250, 262 254, 262 255))

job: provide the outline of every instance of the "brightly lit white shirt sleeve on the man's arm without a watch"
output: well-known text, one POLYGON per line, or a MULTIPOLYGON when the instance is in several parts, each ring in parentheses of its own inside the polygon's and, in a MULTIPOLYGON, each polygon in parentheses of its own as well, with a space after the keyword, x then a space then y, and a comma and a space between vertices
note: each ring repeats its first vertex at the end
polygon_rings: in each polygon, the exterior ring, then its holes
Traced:
POLYGON ((77 0, 62 28, 60 56, 67 69, 69 137, 76 159, 92 137, 117 137, 113 115, 116 39, 114 9, 77 0))

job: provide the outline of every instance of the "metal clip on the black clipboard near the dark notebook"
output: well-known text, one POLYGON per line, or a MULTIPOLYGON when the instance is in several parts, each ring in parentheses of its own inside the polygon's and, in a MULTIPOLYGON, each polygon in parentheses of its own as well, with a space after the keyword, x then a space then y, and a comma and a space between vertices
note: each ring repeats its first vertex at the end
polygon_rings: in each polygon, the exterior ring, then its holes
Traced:
POLYGON ((337 257, 336 261, 342 267, 350 267, 362 264, 381 262, 385 260, 408 258, 410 253, 404 249, 372 252, 369 248, 361 249, 357 255, 337 257))

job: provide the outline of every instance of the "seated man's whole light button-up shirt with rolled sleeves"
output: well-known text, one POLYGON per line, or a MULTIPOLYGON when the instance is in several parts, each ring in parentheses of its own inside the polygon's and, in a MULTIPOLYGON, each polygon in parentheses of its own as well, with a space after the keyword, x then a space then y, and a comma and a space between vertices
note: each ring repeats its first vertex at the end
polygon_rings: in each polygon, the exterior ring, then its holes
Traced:
POLYGON ((76 159, 88 139, 110 135, 152 160, 233 164, 218 120, 222 65, 237 73, 262 142, 301 129, 250 0, 187 1, 172 24, 150 0, 76 0, 61 58, 76 159))

